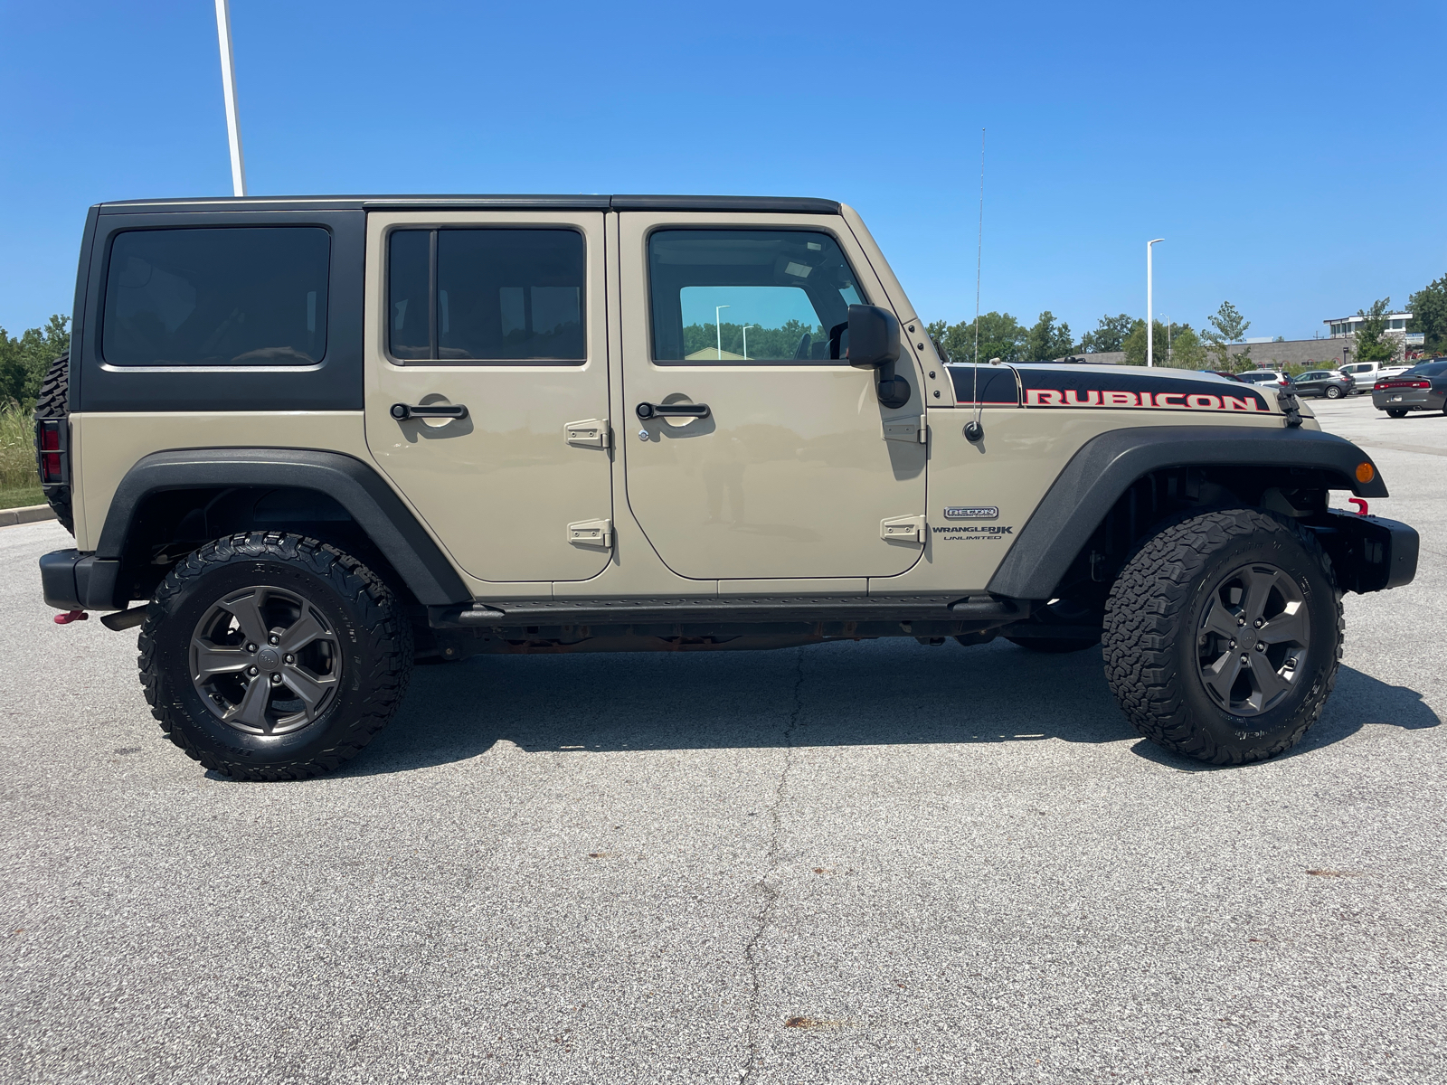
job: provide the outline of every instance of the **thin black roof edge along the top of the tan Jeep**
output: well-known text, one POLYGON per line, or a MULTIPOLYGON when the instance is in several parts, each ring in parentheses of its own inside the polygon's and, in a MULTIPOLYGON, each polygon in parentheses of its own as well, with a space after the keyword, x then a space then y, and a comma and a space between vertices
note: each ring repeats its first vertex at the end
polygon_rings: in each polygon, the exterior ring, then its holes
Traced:
POLYGON ((839 214, 835 200, 796 195, 203 195, 178 200, 117 200, 97 204, 101 214, 143 211, 783 211, 839 214))

